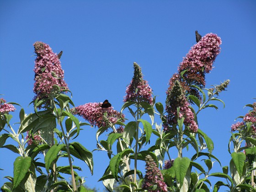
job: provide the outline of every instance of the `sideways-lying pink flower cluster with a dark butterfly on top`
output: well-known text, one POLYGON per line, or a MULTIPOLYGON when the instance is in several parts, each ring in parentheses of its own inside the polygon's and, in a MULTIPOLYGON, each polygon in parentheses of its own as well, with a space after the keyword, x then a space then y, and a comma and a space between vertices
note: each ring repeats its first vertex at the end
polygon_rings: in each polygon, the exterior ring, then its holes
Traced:
MULTIPOLYGON (((102 103, 86 103, 75 107, 73 114, 83 117, 86 121, 98 128, 109 126, 109 123, 117 123, 117 119, 121 118, 120 112, 113 110, 113 107, 102 108, 102 103), (107 113, 107 118, 104 116, 107 113)), ((122 119, 124 115, 122 114, 122 119)), ((122 120, 124 122, 124 120, 122 120)))

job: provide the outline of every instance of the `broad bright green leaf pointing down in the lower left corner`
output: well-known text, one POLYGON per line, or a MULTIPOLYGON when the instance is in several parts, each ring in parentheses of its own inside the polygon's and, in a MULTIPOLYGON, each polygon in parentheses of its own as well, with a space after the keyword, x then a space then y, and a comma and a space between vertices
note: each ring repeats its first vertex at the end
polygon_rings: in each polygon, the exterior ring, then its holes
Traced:
POLYGON ((14 161, 13 188, 15 189, 27 174, 31 164, 31 157, 17 157, 14 161))

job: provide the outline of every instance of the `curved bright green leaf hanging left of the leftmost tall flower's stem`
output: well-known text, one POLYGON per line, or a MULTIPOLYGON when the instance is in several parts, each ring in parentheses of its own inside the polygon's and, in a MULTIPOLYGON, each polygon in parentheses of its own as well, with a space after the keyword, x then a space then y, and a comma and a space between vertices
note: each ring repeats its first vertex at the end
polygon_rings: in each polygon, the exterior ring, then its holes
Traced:
POLYGON ((53 145, 48 152, 46 153, 44 157, 44 162, 45 162, 45 169, 46 171, 49 171, 49 167, 51 163, 57 159, 57 156, 59 154, 59 151, 65 146, 65 144, 55 144, 53 145))

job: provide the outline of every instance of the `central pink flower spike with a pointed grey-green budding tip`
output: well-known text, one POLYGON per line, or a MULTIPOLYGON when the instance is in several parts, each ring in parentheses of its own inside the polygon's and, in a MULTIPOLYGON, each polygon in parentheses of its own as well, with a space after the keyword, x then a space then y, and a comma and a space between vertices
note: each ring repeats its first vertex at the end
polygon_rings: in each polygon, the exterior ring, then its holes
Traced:
POLYGON ((146 101, 153 104, 152 89, 148 81, 143 79, 141 68, 137 63, 133 63, 134 75, 131 83, 126 88, 126 96, 123 101, 146 101))

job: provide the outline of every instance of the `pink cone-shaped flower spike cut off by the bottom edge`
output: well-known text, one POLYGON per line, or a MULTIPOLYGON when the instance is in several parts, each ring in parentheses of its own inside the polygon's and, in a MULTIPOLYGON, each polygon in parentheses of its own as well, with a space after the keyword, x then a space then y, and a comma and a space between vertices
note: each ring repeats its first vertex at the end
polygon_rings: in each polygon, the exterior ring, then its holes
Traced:
POLYGON ((147 155, 145 160, 146 175, 144 177, 144 184, 142 188, 149 192, 167 192, 167 186, 164 182, 163 175, 153 158, 150 155, 147 155), (153 190, 154 186, 156 186, 156 189, 153 190))

